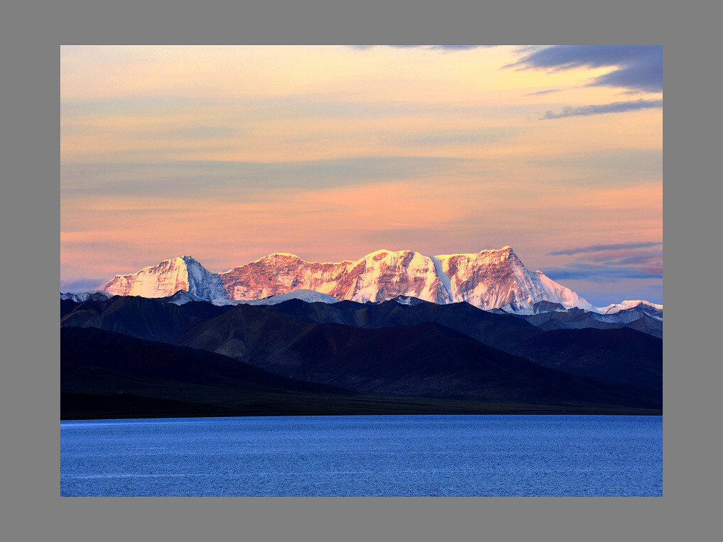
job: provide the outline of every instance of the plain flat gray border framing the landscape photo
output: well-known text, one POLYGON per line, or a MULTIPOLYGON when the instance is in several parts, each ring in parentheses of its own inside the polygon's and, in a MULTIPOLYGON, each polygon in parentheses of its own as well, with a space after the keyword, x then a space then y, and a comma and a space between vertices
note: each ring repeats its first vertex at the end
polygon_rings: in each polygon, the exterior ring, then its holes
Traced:
POLYGON ((652 1, 616 2, 617 10, 609 3, 581 7, 573 1, 423 7, 405 0, 374 8, 368 2, 340 7, 330 0, 250 6, 206 1, 193 7, 163 1, 160 8, 159 2, 138 0, 111 7, 93 1, 43 4, 14 2, 4 7, 0 23, 2 283, 10 300, 1 327, 7 497, 2 530, 8 540, 707 539, 696 532, 707 532, 706 523, 719 513, 713 486, 719 468, 708 468, 710 450, 717 447, 703 432, 716 433, 707 416, 716 412, 710 398, 717 393, 711 374, 717 359, 703 341, 719 333, 719 320, 708 314, 719 293, 698 288, 717 282, 711 276, 717 262, 709 255, 719 252, 719 244, 706 241, 720 231, 714 206, 723 199, 719 192, 708 194, 719 184, 719 174, 703 163, 703 155, 719 153, 720 140, 711 110, 696 116, 683 104, 700 108, 717 87, 709 73, 719 65, 719 43, 713 41, 719 8, 690 3, 663 8, 652 1), (663 43, 668 95, 664 496, 59 497, 58 48, 66 43, 663 43), (690 126, 691 119, 698 119, 696 126, 690 126), (685 303, 691 298, 695 312, 685 303))

